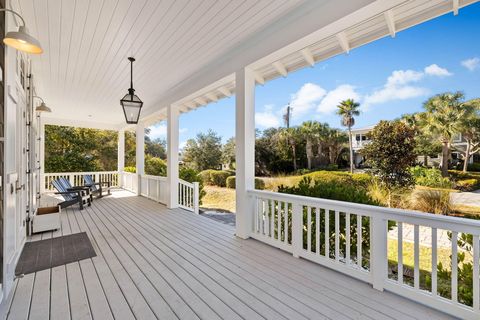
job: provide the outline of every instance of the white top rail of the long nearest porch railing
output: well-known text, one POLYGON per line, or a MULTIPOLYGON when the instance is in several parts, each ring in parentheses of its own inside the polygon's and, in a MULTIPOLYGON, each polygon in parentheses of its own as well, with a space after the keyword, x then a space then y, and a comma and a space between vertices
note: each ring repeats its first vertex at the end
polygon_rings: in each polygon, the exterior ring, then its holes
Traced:
POLYGON ((367 216, 380 214, 383 215, 385 219, 415 224, 426 224, 431 225, 432 227, 445 228, 452 231, 480 234, 480 220, 443 216, 437 214, 426 214, 412 210, 377 207, 366 204, 312 198, 263 190, 248 190, 248 194, 251 196, 258 196, 272 200, 288 201, 311 207, 320 207, 322 209, 338 210, 341 212, 345 211, 367 216))

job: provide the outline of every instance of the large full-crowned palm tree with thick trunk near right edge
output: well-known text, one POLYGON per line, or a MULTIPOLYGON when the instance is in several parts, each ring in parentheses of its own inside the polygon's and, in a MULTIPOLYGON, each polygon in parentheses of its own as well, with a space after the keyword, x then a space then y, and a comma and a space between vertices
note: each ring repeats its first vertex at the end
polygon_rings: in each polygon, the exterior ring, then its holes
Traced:
POLYGON ((474 112, 474 104, 464 102, 462 92, 441 93, 428 99, 424 104, 420 120, 428 132, 442 143, 442 176, 448 177, 448 158, 452 137, 461 133, 462 123, 474 112))

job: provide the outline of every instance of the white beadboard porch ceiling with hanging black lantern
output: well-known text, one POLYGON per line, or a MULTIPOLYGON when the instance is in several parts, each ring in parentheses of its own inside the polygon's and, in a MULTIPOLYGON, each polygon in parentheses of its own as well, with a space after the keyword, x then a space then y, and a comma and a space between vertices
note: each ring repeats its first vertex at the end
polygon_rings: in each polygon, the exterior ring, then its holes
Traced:
POLYGON ((44 54, 32 57, 37 92, 56 119, 120 125, 134 87, 151 106, 180 81, 302 0, 12 0, 44 54))

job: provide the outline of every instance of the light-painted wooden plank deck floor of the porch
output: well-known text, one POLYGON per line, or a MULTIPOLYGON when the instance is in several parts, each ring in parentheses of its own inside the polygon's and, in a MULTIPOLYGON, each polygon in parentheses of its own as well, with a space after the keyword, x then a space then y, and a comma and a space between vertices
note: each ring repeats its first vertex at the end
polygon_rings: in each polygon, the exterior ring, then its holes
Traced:
POLYGON ((97 257, 25 275, 8 319, 449 319, 126 191, 62 214, 97 257))

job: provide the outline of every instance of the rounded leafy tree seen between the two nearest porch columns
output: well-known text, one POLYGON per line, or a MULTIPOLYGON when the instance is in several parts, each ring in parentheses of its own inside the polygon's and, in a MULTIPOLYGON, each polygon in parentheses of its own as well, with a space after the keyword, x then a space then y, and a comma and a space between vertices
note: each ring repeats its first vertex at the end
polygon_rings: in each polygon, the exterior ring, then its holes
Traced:
POLYGON ((218 169, 222 165, 222 138, 213 130, 189 139, 183 161, 195 170, 218 169))

